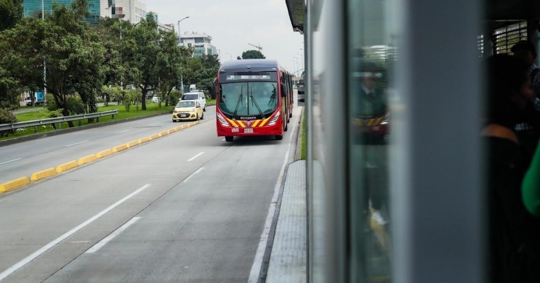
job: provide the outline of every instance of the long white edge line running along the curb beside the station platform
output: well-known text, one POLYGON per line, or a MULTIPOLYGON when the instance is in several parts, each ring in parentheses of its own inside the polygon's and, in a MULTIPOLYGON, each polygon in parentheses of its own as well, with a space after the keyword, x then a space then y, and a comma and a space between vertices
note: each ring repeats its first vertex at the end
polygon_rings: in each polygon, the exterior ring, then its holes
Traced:
POLYGON ((287 166, 289 153, 291 152, 291 141, 293 136, 294 130, 291 132, 291 137, 289 137, 287 152, 285 153, 285 158, 283 160, 283 164, 281 165, 278 181, 276 181, 274 186, 274 195, 272 196, 272 201, 270 202, 270 207, 268 208, 265 226, 262 229, 261 237, 259 239, 259 246, 257 247, 257 252, 255 252, 255 258, 253 259, 253 265, 251 266, 251 271, 249 271, 249 278, 247 280, 248 283, 255 283, 259 281, 262 258, 265 256, 266 245, 268 243, 268 237, 270 234, 270 227, 272 226, 272 220, 274 219, 275 206, 278 203, 279 189, 281 188, 281 182, 283 181, 283 175, 285 174, 285 167, 287 166))

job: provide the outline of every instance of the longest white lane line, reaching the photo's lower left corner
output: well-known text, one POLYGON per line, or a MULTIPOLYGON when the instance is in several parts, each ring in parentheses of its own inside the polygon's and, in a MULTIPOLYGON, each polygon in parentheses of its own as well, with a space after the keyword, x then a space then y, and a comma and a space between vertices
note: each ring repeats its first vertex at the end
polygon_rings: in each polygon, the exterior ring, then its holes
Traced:
POLYGON ((61 241, 65 240, 72 234, 76 233, 80 229, 83 229, 86 225, 94 222, 94 220, 98 219, 99 217, 102 217, 105 213, 111 211, 112 209, 116 208, 118 205, 122 204, 123 202, 130 199, 132 196, 139 194, 139 192, 143 191, 144 189, 148 188, 150 184, 146 184, 143 187, 140 187, 138 190, 132 192, 131 194, 127 195, 123 199, 120 199, 118 202, 112 204, 108 208, 104 209, 103 211, 99 212, 95 216, 92 216, 92 218, 86 220, 85 222, 79 224, 79 226, 71 229, 70 231, 64 233, 62 236, 54 239, 51 241, 51 243, 44 245, 41 249, 33 252, 30 254, 30 256, 25 257, 24 259, 20 260, 18 263, 14 264, 10 268, 6 269, 4 272, 0 273, 0 281, 2 281, 4 278, 8 277, 11 273, 14 273, 15 271, 19 270, 19 268, 25 266, 26 264, 30 263, 30 261, 34 260, 35 258, 41 256, 44 252, 51 249, 51 247, 55 246, 56 244, 60 243, 61 241))

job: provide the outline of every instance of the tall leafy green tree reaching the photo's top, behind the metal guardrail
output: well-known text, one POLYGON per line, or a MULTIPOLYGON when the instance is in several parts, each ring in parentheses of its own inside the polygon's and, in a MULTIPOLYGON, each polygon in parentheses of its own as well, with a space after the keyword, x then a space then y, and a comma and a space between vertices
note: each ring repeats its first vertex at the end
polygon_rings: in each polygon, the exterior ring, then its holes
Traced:
POLYGON ((98 33, 82 22, 87 7, 87 0, 76 0, 71 8, 53 4, 52 13, 45 18, 41 49, 47 64, 46 86, 58 108, 64 109, 64 116, 69 115, 68 98, 76 92, 90 112, 95 112, 95 97, 104 82, 105 48, 98 33))

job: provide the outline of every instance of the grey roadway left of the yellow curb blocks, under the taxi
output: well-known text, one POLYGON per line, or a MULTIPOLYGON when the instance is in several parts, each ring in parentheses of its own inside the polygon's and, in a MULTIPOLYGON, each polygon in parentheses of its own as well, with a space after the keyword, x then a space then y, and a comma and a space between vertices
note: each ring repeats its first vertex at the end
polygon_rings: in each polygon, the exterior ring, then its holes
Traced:
MULTIPOLYGON (((215 119, 215 106, 208 106, 204 114, 205 119, 215 119)), ((0 183, 23 176, 30 177, 33 172, 56 167, 190 122, 173 123, 171 115, 154 116, 0 147, 0 183)))

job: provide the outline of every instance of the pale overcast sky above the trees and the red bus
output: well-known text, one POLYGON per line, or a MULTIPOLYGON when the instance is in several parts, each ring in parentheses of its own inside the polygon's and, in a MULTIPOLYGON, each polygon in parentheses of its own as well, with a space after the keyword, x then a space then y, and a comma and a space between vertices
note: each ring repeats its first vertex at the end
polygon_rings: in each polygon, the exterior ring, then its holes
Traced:
POLYGON ((293 72, 303 53, 303 36, 294 32, 284 0, 141 0, 147 11, 158 13, 159 22, 174 23, 181 32, 197 31, 212 36, 212 45, 220 50, 221 61, 236 59, 243 51, 254 50, 247 45, 262 46, 262 54, 277 59, 293 72), (228 54, 227 54, 228 53, 228 54))

